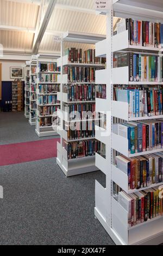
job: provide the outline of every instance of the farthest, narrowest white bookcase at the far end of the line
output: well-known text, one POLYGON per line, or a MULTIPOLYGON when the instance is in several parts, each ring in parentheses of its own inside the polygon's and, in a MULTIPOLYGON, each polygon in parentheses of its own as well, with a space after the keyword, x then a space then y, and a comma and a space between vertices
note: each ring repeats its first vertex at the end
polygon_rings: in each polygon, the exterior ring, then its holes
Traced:
POLYGON ((29 94, 29 80, 30 80, 30 76, 29 76, 29 71, 30 71, 30 63, 29 62, 26 62, 26 66, 25 66, 25 89, 24 89, 24 115, 26 118, 29 118, 29 113, 30 113, 30 109, 29 109, 29 106, 30 106, 30 102, 29 102, 29 97, 30 97, 30 94, 29 94))

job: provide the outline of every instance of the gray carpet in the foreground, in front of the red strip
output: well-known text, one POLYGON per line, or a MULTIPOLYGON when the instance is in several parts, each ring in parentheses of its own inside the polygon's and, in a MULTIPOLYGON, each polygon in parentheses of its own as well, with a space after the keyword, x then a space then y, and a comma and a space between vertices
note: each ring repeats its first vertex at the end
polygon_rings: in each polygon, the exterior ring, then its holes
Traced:
POLYGON ((55 159, 0 167, 1 245, 114 245, 94 217, 95 179, 66 178, 55 159))

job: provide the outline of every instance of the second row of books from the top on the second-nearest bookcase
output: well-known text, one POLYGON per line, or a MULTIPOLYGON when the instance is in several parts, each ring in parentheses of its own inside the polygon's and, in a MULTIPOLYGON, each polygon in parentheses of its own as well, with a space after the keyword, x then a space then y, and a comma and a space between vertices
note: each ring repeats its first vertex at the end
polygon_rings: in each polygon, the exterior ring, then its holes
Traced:
POLYGON ((68 83, 95 82, 95 71, 99 68, 84 68, 81 66, 65 66, 64 74, 68 75, 68 83))

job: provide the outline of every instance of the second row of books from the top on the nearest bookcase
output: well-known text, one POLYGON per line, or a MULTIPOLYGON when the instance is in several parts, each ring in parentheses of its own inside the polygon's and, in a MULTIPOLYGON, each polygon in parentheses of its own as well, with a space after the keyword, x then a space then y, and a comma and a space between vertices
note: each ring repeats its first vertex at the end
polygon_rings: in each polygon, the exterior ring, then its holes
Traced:
POLYGON ((162 82, 162 58, 132 52, 117 54, 117 67, 129 66, 130 82, 162 82))

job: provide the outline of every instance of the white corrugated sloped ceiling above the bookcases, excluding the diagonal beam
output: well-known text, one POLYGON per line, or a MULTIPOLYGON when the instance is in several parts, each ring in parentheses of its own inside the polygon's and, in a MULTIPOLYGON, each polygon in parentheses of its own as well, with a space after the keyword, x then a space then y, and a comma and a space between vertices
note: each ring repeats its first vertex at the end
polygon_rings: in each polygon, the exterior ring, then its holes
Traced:
MULTIPOLYGON (((0 44, 4 51, 32 52, 34 36, 39 28, 39 17, 42 14, 43 19, 48 2, 49 0, 0 0, 0 44)), ((53 40, 53 35, 61 32, 106 34, 106 17, 96 16, 94 3, 95 0, 58 0, 39 52, 59 53, 60 44, 53 40)), ((69 45, 70 43, 66 44, 69 45)))

